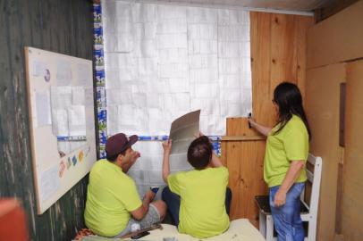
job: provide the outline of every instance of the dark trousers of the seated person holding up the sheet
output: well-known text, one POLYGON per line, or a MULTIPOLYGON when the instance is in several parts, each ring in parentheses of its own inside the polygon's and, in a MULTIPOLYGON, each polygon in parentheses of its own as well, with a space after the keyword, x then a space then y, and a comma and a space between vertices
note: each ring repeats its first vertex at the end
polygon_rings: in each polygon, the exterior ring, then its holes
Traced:
MULTIPOLYGON (((164 187, 162 193, 162 199, 165 202, 172 219, 178 227, 179 225, 179 209, 181 207, 181 196, 174 194, 169 187, 164 187)), ((230 207, 231 207, 231 199, 232 199, 232 191, 230 187, 227 187, 225 191, 225 211, 227 214, 230 214, 230 207)))

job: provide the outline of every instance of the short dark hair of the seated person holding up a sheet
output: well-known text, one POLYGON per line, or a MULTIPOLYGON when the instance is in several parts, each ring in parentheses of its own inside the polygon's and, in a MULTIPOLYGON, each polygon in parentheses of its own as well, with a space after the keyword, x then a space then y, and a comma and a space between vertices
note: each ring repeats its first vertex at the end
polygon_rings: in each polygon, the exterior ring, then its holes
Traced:
POLYGON ((188 148, 188 162, 196 170, 203 170, 212 159, 213 145, 206 136, 193 140, 188 148))

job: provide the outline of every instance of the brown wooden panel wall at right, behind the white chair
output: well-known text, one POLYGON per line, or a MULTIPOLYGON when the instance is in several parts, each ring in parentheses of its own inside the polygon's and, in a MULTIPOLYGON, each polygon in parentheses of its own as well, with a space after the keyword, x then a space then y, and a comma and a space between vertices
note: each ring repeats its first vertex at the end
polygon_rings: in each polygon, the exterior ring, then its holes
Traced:
MULTIPOLYGON (((359 137, 356 135, 361 133, 357 121, 361 119, 359 93, 363 89, 357 77, 347 74, 350 68, 355 70, 355 60, 363 58, 363 29, 359 24, 362 21, 363 1, 359 1, 308 30, 308 118, 314 120, 310 148, 323 157, 317 240, 333 240, 336 234, 342 234, 345 240, 361 240, 362 236, 359 228, 362 219, 357 215, 363 202, 361 172, 357 172, 362 166, 357 158, 361 158, 363 151, 357 148, 359 137), (354 67, 347 68, 348 65, 354 67), (351 109, 345 112, 346 139, 342 148, 336 115, 340 107, 339 84, 345 81, 347 90, 350 89, 346 108, 351 109), (341 184, 340 196, 338 185, 341 184)), ((361 71, 354 72, 360 80, 363 78, 361 71)))

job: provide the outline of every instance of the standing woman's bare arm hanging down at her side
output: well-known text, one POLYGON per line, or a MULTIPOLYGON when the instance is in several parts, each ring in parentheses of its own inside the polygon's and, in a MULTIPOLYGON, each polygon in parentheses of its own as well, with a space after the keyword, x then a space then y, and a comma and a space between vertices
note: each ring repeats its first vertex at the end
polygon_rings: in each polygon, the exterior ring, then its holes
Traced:
POLYGON ((283 183, 274 195, 274 204, 276 206, 281 206, 286 203, 286 194, 295 183, 295 180, 300 177, 300 172, 304 166, 304 161, 291 161, 290 168, 287 170, 283 183))

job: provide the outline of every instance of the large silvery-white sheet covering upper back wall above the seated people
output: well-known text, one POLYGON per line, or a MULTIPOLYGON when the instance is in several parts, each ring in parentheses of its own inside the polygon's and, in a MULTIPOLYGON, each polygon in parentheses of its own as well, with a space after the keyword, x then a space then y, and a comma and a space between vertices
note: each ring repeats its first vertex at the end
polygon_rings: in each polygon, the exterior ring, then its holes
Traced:
POLYGON ((102 9, 108 135, 166 135, 200 109, 201 131, 219 136, 227 117, 251 112, 249 12, 116 0, 102 9))

